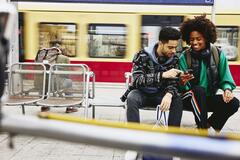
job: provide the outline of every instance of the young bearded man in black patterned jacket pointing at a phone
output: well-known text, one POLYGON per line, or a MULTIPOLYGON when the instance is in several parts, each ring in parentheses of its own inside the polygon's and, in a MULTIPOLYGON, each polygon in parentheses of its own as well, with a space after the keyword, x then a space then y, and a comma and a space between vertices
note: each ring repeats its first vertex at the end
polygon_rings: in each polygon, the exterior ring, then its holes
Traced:
POLYGON ((169 112, 168 125, 180 126, 182 100, 178 94, 178 57, 180 39, 177 29, 166 27, 159 33, 159 42, 138 52, 133 59, 134 88, 127 96, 128 122, 140 122, 139 108, 160 105, 169 112))

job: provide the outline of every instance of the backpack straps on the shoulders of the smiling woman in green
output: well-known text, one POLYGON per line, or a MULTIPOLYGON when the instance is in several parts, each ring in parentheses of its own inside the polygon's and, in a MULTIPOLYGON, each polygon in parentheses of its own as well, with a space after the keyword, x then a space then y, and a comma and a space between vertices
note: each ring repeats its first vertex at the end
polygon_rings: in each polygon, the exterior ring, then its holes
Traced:
MULTIPOLYGON (((187 65, 188 67, 190 68, 192 66, 192 58, 191 58, 191 55, 190 55, 190 48, 188 48, 186 50, 186 59, 187 59, 187 65)), ((220 54, 220 51, 219 49, 214 46, 214 45, 210 45, 210 50, 211 50, 211 54, 213 55, 213 59, 214 59, 214 62, 216 64, 216 67, 218 68, 218 65, 219 65, 219 54, 220 54)))

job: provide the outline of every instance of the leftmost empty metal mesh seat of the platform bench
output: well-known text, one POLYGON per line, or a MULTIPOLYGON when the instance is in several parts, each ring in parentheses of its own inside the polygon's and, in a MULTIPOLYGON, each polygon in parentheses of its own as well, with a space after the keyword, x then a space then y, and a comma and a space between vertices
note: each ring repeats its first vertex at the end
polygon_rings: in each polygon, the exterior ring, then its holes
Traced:
POLYGON ((44 99, 46 67, 42 63, 15 63, 8 72, 8 85, 4 97, 6 105, 22 106, 35 104, 44 99), (36 82, 36 79, 39 81, 36 82))

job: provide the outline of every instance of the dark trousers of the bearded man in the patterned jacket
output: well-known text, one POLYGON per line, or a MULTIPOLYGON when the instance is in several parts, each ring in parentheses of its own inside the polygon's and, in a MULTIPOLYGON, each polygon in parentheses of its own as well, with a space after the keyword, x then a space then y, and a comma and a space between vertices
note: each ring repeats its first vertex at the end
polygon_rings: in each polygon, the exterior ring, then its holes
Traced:
MULTIPOLYGON (((127 96, 128 122, 140 122, 139 108, 146 106, 157 107, 161 104, 164 94, 145 94, 142 91, 132 90, 127 96)), ((180 126, 182 119, 182 100, 180 96, 173 96, 168 116, 169 126, 180 126)))

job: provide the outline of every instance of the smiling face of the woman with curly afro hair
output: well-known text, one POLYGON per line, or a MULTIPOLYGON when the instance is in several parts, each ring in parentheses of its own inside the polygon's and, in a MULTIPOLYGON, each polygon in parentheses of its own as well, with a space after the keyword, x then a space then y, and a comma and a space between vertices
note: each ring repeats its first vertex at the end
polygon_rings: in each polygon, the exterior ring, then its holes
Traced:
POLYGON ((206 48, 206 40, 198 31, 190 33, 190 45, 194 51, 201 51, 206 48))

